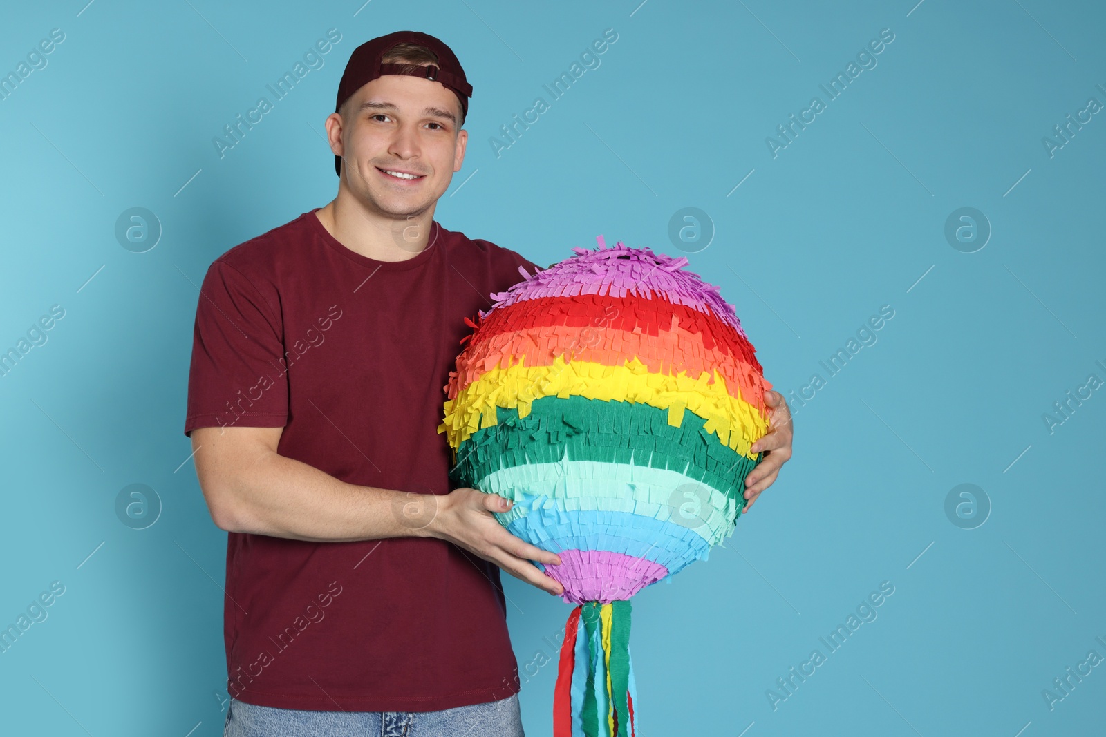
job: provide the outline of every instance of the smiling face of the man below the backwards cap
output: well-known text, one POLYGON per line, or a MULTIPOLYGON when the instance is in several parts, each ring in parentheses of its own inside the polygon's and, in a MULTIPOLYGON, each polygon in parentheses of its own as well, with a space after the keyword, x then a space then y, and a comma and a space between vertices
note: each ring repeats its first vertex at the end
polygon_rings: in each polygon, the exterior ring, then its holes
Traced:
POLYGON ((341 123, 332 136, 343 147, 348 188, 383 214, 425 212, 465 159, 460 114, 457 95, 438 82, 386 74, 365 84, 346 101, 344 115, 331 116, 341 123))

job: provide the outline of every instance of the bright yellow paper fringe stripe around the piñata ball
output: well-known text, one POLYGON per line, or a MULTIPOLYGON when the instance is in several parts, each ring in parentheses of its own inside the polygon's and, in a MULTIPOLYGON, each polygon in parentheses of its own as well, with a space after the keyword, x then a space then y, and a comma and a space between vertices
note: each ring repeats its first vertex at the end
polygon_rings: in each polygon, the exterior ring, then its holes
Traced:
POLYGON ((564 357, 557 356, 552 366, 518 362, 507 369, 495 367, 446 401, 446 421, 438 425, 438 432, 445 432, 456 450, 481 428, 498 423, 497 407, 517 407, 523 418, 530 414, 530 403, 541 397, 581 396, 667 409, 668 424, 676 428, 684 420, 684 410, 690 410, 707 421, 707 432, 738 453, 754 457, 749 446, 768 432, 768 419, 744 398, 731 397, 726 378, 718 371, 712 373, 713 383, 706 371, 698 379, 682 371, 677 376, 649 373, 636 357, 622 366, 565 364, 564 357))

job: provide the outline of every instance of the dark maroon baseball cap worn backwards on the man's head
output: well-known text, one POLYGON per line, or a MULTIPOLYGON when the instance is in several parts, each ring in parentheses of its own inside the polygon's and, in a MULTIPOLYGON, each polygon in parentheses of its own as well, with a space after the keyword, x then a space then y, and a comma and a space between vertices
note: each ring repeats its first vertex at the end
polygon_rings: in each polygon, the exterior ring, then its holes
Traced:
MULTIPOLYGON (((338 97, 334 104, 334 112, 337 113, 342 103, 362 86, 385 74, 406 74, 410 76, 425 76, 427 80, 438 82, 453 91, 457 98, 461 101, 461 110, 469 114, 469 97, 472 96, 472 85, 465 78, 465 70, 452 50, 440 39, 436 39, 429 33, 418 31, 396 31, 366 41, 349 55, 346 62, 345 72, 342 73, 342 81, 338 83, 338 97), (438 56, 438 65, 416 66, 409 69, 406 64, 382 64, 385 53, 399 43, 417 43, 426 46, 438 56)), ((334 157, 334 171, 342 175, 342 157, 334 157)))

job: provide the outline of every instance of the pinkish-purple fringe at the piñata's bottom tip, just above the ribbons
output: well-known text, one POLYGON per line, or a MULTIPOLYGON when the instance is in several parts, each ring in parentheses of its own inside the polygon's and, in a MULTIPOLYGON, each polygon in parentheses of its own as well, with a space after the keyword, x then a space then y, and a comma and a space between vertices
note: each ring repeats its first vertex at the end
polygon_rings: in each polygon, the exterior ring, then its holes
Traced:
POLYGON ((611 603, 626 600, 668 576, 660 564, 609 550, 559 550, 560 566, 545 566, 550 578, 564 587, 565 603, 611 603))

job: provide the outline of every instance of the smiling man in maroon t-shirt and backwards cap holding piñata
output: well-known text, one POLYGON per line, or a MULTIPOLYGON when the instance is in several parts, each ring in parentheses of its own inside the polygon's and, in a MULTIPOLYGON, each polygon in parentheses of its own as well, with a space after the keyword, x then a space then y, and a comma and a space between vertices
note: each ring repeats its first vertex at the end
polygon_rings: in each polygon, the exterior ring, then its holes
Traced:
MULTIPOLYGON (((508 499, 450 491, 437 432, 463 318, 538 269, 434 221, 471 92, 431 35, 358 46, 326 119, 337 197, 204 280, 185 432, 229 533, 227 735, 522 735, 499 569, 556 594, 530 561, 560 558, 495 522, 508 499)), ((750 505, 790 424, 761 442, 750 505)))

